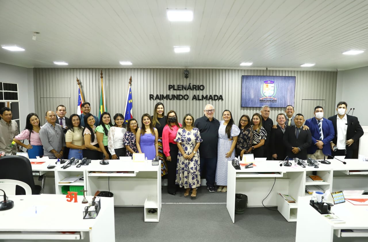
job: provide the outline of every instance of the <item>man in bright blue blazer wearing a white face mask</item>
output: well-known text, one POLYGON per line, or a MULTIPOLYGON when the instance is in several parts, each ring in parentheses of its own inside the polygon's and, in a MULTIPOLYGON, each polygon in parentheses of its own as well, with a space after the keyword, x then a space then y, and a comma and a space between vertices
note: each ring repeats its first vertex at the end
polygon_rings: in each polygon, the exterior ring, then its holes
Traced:
POLYGON ((314 108, 314 118, 305 121, 311 129, 312 145, 307 149, 308 157, 322 160, 325 154, 330 154, 330 142, 335 137, 332 121, 323 118, 323 107, 314 108))

